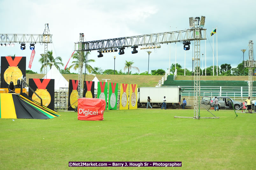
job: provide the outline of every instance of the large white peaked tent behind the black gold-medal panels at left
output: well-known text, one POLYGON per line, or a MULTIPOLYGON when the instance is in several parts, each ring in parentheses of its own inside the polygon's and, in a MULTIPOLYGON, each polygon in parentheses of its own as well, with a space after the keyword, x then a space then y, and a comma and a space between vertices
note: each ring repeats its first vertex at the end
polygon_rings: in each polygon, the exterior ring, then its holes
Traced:
POLYGON ((46 77, 47 79, 54 79, 54 91, 59 91, 60 88, 68 88, 68 81, 60 74, 59 70, 54 65, 46 74, 46 77))

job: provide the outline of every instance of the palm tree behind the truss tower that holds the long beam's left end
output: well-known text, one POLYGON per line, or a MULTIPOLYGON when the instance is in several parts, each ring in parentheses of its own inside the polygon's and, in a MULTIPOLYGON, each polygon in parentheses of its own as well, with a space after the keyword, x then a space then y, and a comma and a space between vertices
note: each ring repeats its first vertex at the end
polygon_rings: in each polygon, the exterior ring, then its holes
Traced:
MULTIPOLYGON (((88 54, 90 54, 90 52, 87 52, 88 54)), ((86 56, 86 53, 82 52, 82 63, 83 63, 83 66, 85 66, 85 69, 88 70, 89 73, 91 73, 93 71, 93 68, 88 64, 90 62, 95 62, 95 60, 86 60, 87 56, 86 56)), ((75 61, 72 61, 72 65, 70 67, 68 67, 68 69, 70 68, 74 68, 75 70, 79 67, 79 52, 76 52, 73 54, 72 58, 75 60, 75 61)))

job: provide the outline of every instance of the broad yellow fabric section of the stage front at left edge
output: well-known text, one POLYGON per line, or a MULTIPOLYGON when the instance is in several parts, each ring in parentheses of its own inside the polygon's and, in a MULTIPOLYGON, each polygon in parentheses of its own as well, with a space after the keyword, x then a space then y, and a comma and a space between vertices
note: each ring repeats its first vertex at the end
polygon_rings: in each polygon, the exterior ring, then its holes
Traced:
POLYGON ((1 93, 0 102, 1 102, 1 118, 17 119, 15 107, 12 99, 12 94, 1 93))

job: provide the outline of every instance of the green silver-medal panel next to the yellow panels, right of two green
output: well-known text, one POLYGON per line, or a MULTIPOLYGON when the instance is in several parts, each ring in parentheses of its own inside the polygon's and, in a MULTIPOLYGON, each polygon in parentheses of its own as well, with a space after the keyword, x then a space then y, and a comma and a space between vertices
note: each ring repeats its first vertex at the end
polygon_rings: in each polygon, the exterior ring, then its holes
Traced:
POLYGON ((109 104, 108 110, 117 110, 118 83, 109 83, 109 104))

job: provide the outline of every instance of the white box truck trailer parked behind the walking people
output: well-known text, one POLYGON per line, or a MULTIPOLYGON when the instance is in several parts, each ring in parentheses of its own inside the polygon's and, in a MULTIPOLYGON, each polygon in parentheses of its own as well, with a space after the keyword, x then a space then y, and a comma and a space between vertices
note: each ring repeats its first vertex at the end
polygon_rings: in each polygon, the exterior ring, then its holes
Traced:
POLYGON ((147 105, 147 97, 151 99, 151 106, 162 106, 166 97, 166 106, 175 106, 180 102, 179 87, 140 87, 138 88, 138 107, 147 105))

